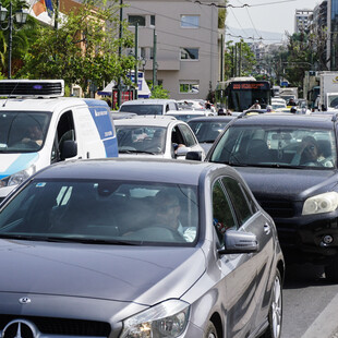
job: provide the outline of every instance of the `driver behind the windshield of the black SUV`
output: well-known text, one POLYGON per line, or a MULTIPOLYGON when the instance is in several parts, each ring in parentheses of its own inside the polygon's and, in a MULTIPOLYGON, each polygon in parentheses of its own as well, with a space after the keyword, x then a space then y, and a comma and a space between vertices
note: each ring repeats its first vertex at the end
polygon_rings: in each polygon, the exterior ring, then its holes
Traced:
POLYGON ((316 140, 313 136, 305 136, 302 140, 291 164, 311 167, 334 167, 333 161, 329 158, 325 158, 316 140))

